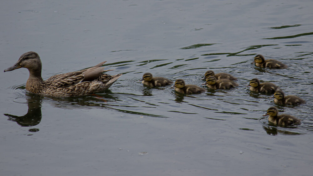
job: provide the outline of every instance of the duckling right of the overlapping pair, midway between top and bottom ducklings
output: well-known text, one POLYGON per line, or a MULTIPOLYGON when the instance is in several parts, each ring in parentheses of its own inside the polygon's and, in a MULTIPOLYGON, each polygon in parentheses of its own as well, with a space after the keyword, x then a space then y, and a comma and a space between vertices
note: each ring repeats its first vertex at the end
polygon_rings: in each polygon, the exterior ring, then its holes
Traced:
POLYGON ((260 84, 257 78, 252 79, 247 86, 251 86, 249 89, 255 92, 274 93, 276 90, 280 90, 280 88, 273 83, 265 82, 260 84))

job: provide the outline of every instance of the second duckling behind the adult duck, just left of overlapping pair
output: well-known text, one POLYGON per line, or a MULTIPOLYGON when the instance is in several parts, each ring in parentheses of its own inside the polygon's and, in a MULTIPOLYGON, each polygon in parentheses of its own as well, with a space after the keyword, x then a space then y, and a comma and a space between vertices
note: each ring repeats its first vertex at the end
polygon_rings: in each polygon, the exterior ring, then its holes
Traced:
POLYGON ((202 93, 205 92, 205 89, 196 85, 185 85, 185 81, 182 79, 178 79, 175 81, 174 86, 175 91, 181 94, 193 94, 193 93, 202 93))

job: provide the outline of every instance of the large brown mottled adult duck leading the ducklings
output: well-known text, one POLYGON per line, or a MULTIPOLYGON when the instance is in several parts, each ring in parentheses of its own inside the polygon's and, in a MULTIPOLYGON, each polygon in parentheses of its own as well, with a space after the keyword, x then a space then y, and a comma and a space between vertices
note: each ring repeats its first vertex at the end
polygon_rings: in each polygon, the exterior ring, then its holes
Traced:
POLYGON ((34 94, 53 97, 68 97, 88 95, 109 88, 122 74, 110 76, 102 73, 104 63, 101 62, 91 68, 54 75, 44 81, 41 77, 41 61, 36 52, 29 51, 18 59, 11 67, 4 70, 12 71, 18 68, 27 68, 29 78, 26 90, 34 94))

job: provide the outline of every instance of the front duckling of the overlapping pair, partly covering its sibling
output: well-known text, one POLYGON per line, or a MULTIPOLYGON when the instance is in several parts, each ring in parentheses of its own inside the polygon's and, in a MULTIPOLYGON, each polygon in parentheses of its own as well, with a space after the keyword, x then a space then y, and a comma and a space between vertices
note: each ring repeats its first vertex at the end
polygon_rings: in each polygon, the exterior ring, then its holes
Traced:
POLYGON ((206 80, 206 82, 202 85, 207 85, 208 88, 210 89, 230 89, 234 88, 236 86, 239 86, 237 83, 234 81, 230 80, 216 80, 216 77, 214 76, 209 76, 206 80))

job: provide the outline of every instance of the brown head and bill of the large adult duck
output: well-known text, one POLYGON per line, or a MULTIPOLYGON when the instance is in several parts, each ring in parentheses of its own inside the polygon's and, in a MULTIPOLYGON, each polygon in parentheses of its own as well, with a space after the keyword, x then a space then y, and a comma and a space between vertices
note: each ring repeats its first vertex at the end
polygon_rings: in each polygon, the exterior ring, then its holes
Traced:
POLYGON ((40 57, 36 52, 28 51, 20 56, 18 61, 11 67, 4 70, 12 71, 18 68, 27 68, 30 73, 32 72, 40 72, 41 75, 41 61, 40 57))

